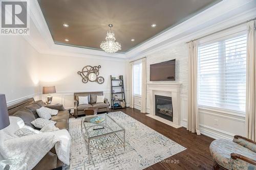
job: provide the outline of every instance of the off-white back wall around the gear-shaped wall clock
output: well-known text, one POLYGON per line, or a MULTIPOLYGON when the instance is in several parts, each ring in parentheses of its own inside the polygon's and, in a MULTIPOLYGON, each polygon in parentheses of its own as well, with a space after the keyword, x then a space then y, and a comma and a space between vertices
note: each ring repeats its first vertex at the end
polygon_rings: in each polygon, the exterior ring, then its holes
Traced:
MULTIPOLYGON (((80 58, 43 54, 39 58, 39 67, 40 90, 42 86, 54 85, 57 93, 53 94, 53 103, 62 103, 65 108, 74 106, 73 93, 79 91, 103 91, 110 101, 110 75, 116 78, 123 75, 126 89, 126 61, 123 60, 95 59, 93 56, 80 58), (77 71, 81 71, 87 65, 101 65, 99 76, 104 78, 103 84, 90 81, 86 84, 82 83, 82 78, 77 74, 77 71)), ((45 100, 45 95, 42 95, 42 100, 45 100)))

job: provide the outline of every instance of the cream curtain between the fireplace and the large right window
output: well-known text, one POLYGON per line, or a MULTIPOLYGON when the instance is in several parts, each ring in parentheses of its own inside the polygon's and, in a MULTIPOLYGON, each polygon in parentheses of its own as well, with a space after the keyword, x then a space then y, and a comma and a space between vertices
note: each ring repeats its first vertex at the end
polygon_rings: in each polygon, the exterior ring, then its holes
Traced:
POLYGON ((189 90, 188 90, 188 124, 187 130, 200 135, 199 131, 199 114, 197 104, 197 41, 188 43, 188 72, 189 72, 189 90))

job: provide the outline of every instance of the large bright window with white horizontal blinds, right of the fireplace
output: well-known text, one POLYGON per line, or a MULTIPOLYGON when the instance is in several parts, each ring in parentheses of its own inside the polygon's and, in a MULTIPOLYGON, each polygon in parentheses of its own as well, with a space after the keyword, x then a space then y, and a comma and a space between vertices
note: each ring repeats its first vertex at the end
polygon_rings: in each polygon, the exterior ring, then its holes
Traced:
POLYGON ((246 34, 198 47, 198 104, 245 112, 246 34))

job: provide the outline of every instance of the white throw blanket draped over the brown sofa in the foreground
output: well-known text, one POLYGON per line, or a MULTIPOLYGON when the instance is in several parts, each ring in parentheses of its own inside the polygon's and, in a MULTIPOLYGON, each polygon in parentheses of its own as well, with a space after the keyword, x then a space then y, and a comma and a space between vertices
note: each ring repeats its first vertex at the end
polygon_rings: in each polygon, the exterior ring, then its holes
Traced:
POLYGON ((4 159, 22 159, 32 169, 55 145, 56 154, 69 165, 70 135, 67 130, 13 137, 0 131, 0 153, 4 159), (6 136, 5 136, 6 135, 6 136))

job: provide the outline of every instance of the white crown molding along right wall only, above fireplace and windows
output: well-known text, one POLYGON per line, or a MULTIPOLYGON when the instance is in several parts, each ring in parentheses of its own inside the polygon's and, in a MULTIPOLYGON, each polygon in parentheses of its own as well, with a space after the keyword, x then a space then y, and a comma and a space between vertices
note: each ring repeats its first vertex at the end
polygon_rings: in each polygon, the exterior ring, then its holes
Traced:
POLYGON ((255 0, 224 0, 125 53, 126 60, 139 59, 171 45, 251 19, 256 16, 255 8, 255 0))

